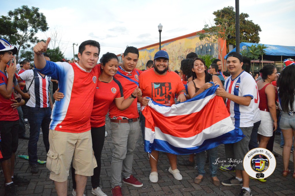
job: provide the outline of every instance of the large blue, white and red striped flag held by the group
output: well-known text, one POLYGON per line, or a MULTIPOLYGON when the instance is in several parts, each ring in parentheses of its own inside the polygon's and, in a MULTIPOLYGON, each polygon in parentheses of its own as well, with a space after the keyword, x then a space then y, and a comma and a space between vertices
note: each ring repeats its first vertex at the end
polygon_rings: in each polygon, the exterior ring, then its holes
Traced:
POLYGON ((185 102, 164 106, 150 99, 143 106, 145 151, 193 154, 220 144, 240 141, 244 135, 235 127, 222 97, 212 86, 185 102))

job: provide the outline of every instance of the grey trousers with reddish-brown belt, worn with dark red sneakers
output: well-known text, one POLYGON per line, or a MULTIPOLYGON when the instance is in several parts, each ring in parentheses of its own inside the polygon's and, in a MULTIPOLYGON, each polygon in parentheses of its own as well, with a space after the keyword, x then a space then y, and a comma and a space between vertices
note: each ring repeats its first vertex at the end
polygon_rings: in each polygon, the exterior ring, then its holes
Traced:
POLYGON ((132 174, 133 152, 139 134, 139 121, 133 123, 111 122, 111 138, 114 145, 111 163, 112 188, 122 185, 121 173, 123 178, 127 178, 132 174))

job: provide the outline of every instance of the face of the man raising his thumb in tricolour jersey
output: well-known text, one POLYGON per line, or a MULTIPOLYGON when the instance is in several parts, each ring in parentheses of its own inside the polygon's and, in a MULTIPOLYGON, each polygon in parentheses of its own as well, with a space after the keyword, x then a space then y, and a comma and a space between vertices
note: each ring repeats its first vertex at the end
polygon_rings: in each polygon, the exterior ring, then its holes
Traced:
POLYGON ((86 71, 90 71, 96 65, 98 61, 98 55, 98 47, 86 45, 82 54, 80 52, 78 53, 78 64, 86 71))

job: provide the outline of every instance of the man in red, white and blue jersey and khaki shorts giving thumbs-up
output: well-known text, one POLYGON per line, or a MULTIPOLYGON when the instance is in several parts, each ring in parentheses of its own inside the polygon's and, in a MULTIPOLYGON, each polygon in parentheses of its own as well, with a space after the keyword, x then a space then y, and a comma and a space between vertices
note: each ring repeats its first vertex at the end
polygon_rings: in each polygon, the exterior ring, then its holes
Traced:
POLYGON ((78 51, 79 62, 69 64, 45 60, 43 52, 46 52, 49 42, 50 38, 33 48, 35 67, 38 72, 59 81, 64 98, 53 106, 46 167, 50 170, 50 179, 55 181, 58 196, 66 196, 72 161, 77 182, 73 195, 82 196, 87 177, 93 175, 96 167, 92 153, 90 115, 96 80, 101 70, 96 65, 100 45, 94 40, 82 42, 78 51))

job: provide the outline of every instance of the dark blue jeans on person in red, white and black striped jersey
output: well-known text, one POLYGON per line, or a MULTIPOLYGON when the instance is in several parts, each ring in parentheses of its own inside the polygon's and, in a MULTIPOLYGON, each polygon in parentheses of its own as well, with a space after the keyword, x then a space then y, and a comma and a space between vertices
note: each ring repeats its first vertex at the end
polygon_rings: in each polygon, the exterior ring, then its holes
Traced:
POLYGON ((42 128, 43 142, 46 153, 49 150, 49 124, 51 109, 48 108, 32 108, 28 107, 28 121, 30 123, 30 139, 28 144, 29 164, 37 164, 37 142, 39 140, 40 128, 42 128))

